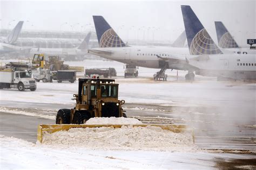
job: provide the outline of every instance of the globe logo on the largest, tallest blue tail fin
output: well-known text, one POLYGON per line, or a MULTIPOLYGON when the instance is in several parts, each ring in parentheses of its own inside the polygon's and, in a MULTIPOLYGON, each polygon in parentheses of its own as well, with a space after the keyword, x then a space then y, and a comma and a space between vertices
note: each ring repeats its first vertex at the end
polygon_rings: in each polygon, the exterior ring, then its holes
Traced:
POLYGON ((205 29, 200 30, 196 36, 194 36, 190 45, 191 55, 216 55, 221 53, 222 52, 205 29))

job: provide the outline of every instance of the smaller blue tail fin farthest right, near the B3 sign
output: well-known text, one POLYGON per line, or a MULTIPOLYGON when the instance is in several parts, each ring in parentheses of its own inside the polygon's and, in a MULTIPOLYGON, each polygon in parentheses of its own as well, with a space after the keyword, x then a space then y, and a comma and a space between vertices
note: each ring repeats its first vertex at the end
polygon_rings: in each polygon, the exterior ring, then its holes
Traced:
POLYGON ((224 49, 239 48, 237 42, 235 42, 225 25, 220 21, 215 21, 214 23, 219 46, 224 49))

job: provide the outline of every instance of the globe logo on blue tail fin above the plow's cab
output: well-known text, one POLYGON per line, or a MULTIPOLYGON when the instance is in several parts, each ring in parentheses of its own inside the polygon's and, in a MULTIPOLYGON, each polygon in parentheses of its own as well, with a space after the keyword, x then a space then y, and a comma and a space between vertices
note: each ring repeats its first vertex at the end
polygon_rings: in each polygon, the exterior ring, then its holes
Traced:
POLYGON ((124 42, 117 36, 113 29, 106 30, 99 41, 100 47, 123 47, 124 42))

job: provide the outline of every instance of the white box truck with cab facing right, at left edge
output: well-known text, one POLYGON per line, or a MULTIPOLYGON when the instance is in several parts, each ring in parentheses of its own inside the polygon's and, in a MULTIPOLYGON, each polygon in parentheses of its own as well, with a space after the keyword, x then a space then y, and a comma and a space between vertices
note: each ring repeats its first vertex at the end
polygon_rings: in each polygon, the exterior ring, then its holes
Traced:
POLYGON ((31 78, 27 70, 14 71, 12 69, 0 70, 0 89, 17 88, 19 91, 36 90, 36 80, 31 78))

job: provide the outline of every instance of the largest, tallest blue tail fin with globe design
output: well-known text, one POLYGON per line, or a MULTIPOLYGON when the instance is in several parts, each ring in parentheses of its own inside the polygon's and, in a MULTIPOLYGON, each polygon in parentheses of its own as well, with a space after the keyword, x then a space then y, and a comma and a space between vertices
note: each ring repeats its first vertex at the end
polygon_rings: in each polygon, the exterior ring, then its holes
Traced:
POLYGON ((190 54, 214 55, 222 53, 191 7, 188 5, 181 5, 181 11, 190 54))

